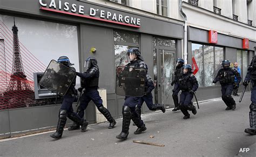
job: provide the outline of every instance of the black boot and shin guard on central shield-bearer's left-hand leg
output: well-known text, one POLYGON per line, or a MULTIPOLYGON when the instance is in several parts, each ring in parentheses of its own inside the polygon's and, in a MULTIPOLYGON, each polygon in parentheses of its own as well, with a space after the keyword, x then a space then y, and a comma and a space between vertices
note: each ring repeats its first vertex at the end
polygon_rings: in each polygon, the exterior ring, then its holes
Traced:
POLYGON ((123 126, 122 132, 116 136, 117 139, 126 140, 129 134, 129 126, 131 123, 131 111, 129 106, 123 106, 123 126))

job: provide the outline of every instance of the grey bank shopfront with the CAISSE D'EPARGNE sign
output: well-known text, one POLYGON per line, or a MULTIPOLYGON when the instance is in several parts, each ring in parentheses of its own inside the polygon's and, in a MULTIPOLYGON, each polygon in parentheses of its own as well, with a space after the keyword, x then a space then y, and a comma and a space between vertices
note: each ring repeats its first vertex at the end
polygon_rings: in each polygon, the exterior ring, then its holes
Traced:
MULTIPOLYGON (((154 100, 166 108, 173 106, 170 83, 175 60, 182 57, 181 21, 163 21, 92 2, 2 0, 0 29, 2 137, 56 125, 60 99, 56 103, 54 93, 39 93, 45 89, 37 84, 35 73, 44 72, 50 60, 59 56, 68 56, 80 72, 85 70, 87 57, 97 58, 99 87, 106 91, 107 108, 117 119, 122 116, 124 97, 115 93, 116 67, 128 63, 127 49, 138 47, 156 85, 154 100), (14 28, 18 29, 17 36, 14 28), (19 44, 14 44, 14 40, 19 44), (24 74, 22 81, 13 79, 16 67, 24 74), (21 82, 25 87, 15 88, 21 82), (30 97, 25 91, 35 94, 30 97), (48 95, 39 98, 38 94, 48 95)), ((77 87, 79 82, 77 78, 77 87)), ((143 113, 147 112, 150 111, 144 105, 143 113)), ((92 124, 97 122, 96 117, 95 105, 91 103, 85 118, 92 124)))

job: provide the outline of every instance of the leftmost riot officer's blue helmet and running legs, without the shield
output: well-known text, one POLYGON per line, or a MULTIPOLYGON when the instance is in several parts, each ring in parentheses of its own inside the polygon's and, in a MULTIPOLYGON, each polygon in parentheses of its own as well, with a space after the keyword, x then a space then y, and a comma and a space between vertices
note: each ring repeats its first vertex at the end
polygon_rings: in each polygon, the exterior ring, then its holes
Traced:
MULTIPOLYGON (((75 67, 71 67, 71 65, 73 64, 70 63, 69 58, 66 56, 59 57, 58 63, 63 64, 69 67, 70 69, 76 71, 75 67)), ((85 132, 86 127, 88 125, 88 122, 86 120, 80 118, 75 112, 73 112, 72 103, 76 99, 75 95, 77 95, 75 85, 76 85, 76 78, 73 79, 72 84, 70 85, 68 91, 63 97, 62 106, 60 107, 60 110, 59 110, 59 120, 58 120, 56 132, 50 135, 54 139, 62 138, 63 128, 66 124, 67 117, 72 121, 76 122, 76 124, 78 124, 79 127, 82 126, 81 127, 82 132, 85 132)))

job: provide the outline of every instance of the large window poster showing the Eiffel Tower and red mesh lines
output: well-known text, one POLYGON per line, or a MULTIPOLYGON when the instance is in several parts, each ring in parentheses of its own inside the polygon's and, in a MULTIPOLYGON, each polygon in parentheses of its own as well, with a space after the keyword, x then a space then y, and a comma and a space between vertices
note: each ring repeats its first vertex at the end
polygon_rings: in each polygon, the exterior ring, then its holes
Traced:
POLYGON ((0 30, 0 110, 35 104, 33 73, 52 59, 67 56, 79 71, 77 26, 0 15, 0 30))

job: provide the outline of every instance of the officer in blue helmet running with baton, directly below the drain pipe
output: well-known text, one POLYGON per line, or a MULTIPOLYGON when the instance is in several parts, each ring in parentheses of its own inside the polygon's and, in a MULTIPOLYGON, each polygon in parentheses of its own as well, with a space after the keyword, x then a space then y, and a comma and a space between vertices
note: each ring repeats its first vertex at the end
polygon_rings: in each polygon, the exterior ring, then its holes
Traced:
POLYGON ((180 111, 184 114, 183 119, 190 118, 190 114, 187 110, 192 111, 193 114, 197 114, 196 107, 191 104, 194 92, 197 91, 198 81, 197 78, 192 74, 192 67, 190 64, 185 64, 182 68, 182 75, 178 80, 178 86, 182 91, 180 94, 180 111))

